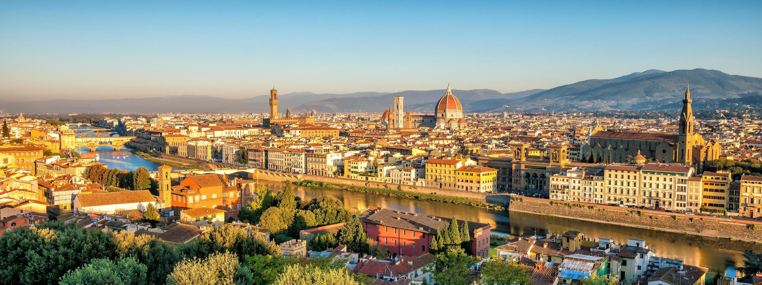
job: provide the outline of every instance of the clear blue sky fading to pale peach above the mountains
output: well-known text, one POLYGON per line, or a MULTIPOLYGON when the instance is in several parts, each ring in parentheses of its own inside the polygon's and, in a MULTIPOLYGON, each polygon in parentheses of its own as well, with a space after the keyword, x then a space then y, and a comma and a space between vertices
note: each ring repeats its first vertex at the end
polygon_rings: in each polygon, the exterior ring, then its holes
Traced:
POLYGON ((760 1, 0 2, 0 99, 488 88, 651 68, 762 77, 760 1))

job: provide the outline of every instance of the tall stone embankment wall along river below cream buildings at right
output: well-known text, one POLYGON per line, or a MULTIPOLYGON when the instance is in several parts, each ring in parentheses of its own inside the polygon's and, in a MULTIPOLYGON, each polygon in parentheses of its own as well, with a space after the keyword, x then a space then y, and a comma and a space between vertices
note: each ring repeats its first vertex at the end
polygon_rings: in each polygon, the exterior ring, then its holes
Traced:
POLYGON ((555 201, 550 204, 550 200, 547 199, 527 197, 514 198, 508 209, 509 211, 567 217, 597 223, 762 242, 762 223, 751 220, 728 220, 722 217, 691 216, 597 204, 557 203, 555 201), (753 230, 754 226, 751 225, 756 225, 756 229, 753 230))

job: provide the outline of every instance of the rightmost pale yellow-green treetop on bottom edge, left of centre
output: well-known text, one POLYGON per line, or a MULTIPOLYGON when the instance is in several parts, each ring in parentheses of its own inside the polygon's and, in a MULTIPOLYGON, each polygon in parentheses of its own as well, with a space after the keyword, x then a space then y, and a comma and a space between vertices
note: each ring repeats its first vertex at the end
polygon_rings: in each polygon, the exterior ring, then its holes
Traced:
POLYGON ((302 264, 288 265, 275 280, 276 285, 360 285, 346 268, 318 268, 302 264))

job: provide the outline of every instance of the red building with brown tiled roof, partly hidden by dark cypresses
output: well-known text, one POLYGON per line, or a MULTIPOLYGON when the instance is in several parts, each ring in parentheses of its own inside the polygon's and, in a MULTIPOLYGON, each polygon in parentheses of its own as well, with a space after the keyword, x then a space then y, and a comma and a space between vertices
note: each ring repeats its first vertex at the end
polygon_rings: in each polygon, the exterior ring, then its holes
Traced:
MULTIPOLYGON (((379 207, 369 207, 360 214, 360 221, 368 238, 376 239, 379 245, 386 245, 392 257, 429 252, 431 239, 437 234, 437 230, 450 225, 450 218, 379 207)), ((491 226, 488 223, 463 220, 459 220, 458 223, 458 226, 468 223, 472 255, 488 257, 491 226)))

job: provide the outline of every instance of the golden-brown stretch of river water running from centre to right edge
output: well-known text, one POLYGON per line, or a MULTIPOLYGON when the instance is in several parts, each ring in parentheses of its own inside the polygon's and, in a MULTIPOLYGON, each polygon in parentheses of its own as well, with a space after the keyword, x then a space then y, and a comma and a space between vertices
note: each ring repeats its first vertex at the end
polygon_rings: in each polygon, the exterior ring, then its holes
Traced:
MULTIPOLYGON (((260 180, 274 192, 280 191, 283 184, 260 180)), ((342 190, 295 187, 296 196, 315 198, 321 195, 331 195, 344 201, 349 208, 363 211, 367 207, 386 207, 399 211, 433 214, 441 217, 457 217, 462 220, 478 221, 494 225, 493 231, 498 233, 545 235, 562 234, 567 230, 578 230, 593 239, 605 237, 614 239, 617 243, 626 243, 628 238, 644 239, 657 256, 674 259, 684 259, 687 264, 697 264, 709 268, 710 272, 724 272, 728 266, 739 266, 744 249, 762 251, 762 245, 751 242, 731 241, 702 236, 692 236, 680 233, 668 233, 655 230, 645 230, 627 226, 617 226, 607 223, 593 223, 582 220, 550 217, 519 212, 496 211, 479 207, 469 207, 458 204, 447 204, 431 201, 418 201, 408 198, 370 195, 342 190)))

